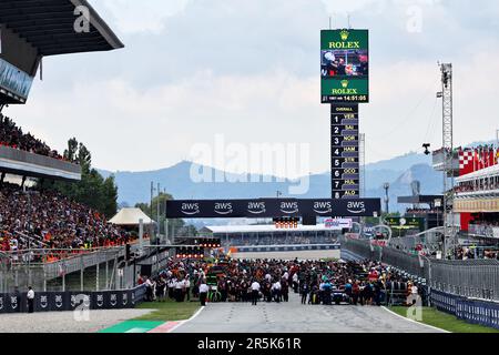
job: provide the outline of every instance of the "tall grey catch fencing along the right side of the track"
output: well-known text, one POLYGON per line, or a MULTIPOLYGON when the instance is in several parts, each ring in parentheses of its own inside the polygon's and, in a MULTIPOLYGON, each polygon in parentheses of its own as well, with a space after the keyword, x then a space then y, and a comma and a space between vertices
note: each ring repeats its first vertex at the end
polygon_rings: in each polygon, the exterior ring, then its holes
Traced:
POLYGON ((367 240, 342 239, 342 248, 422 278, 431 291, 499 302, 499 261, 447 261, 413 255, 367 240))

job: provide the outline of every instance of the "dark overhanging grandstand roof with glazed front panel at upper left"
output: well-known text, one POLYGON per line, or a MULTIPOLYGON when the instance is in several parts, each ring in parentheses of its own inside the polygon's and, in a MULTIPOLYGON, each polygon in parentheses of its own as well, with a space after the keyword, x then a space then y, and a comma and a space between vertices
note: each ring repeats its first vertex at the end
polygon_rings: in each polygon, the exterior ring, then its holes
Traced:
POLYGON ((0 109, 27 102, 44 57, 124 47, 86 0, 1 0, 0 36, 0 109))

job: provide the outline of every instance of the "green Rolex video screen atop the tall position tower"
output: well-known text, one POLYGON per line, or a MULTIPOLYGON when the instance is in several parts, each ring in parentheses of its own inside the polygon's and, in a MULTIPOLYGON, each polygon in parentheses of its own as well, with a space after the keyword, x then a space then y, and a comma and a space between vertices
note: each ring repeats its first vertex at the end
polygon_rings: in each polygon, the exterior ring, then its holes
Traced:
POLYGON ((320 32, 323 103, 369 101, 369 33, 367 30, 320 32))

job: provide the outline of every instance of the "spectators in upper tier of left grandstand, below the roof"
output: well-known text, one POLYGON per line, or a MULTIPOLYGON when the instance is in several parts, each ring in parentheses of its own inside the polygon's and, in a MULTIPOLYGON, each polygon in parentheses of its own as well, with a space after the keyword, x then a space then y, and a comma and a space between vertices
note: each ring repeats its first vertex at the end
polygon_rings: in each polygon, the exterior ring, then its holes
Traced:
POLYGON ((63 156, 31 133, 24 133, 21 128, 0 113, 0 146, 19 149, 34 154, 63 160, 63 156))

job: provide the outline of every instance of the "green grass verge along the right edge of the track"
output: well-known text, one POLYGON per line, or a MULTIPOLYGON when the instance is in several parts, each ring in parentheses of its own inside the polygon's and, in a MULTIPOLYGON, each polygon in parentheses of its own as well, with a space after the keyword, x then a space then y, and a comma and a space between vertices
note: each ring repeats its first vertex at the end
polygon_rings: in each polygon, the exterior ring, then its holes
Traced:
MULTIPOLYGON (((407 307, 390 307, 389 310, 404 317, 407 316, 407 307)), ((422 322, 419 323, 436 326, 451 333, 499 333, 499 329, 466 323, 465 321, 458 320, 454 315, 431 307, 422 308, 422 322)))

